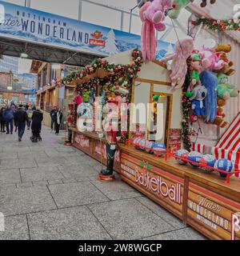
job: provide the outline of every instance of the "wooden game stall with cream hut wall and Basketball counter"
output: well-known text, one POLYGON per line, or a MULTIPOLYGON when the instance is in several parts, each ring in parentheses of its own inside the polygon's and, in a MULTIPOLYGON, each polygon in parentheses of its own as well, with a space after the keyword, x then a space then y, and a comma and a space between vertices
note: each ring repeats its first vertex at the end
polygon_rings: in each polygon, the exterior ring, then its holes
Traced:
MULTIPOLYGON (((107 58, 108 62, 131 62, 130 52, 107 58)), ((143 103, 146 117, 141 119, 137 110, 130 110, 130 137, 136 136, 166 145, 168 151, 181 147, 182 90, 170 86, 170 73, 159 62, 142 65, 134 78, 131 102, 143 103), (154 113, 148 104, 159 96, 162 103, 162 137, 152 132, 154 113), (146 132, 132 130, 145 126, 146 132)), ((138 109, 138 107, 136 107, 138 109)), ((142 113, 141 113, 142 114, 142 113)), ((92 158, 106 162, 105 141, 97 134, 73 130, 73 146, 92 158), (101 146, 102 144, 102 146, 101 146)), ((190 165, 181 166, 175 158, 158 157, 136 149, 131 143, 118 144, 114 169, 123 181, 157 202, 183 222, 210 239, 240 240, 240 179, 231 177, 230 184, 217 172, 210 173, 190 165)))

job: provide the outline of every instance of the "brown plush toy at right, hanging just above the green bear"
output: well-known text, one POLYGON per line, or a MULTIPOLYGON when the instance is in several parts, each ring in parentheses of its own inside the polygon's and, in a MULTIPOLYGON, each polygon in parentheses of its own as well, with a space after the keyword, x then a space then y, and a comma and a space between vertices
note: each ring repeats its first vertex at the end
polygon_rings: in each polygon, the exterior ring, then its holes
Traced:
POLYGON ((234 62, 231 62, 227 58, 227 55, 226 55, 226 54, 230 53, 231 50, 232 50, 232 47, 230 45, 227 45, 227 44, 219 44, 218 45, 218 47, 216 48, 215 51, 218 55, 218 58, 223 60, 225 62, 225 64, 223 65, 221 70, 213 70, 214 73, 226 74, 228 76, 231 76, 236 73, 236 70, 233 69, 234 62))

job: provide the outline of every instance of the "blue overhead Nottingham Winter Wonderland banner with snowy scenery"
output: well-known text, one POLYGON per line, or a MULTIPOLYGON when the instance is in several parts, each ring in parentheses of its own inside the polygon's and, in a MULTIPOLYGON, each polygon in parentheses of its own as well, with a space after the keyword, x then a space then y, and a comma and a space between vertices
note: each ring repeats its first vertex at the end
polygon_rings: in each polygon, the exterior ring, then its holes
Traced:
MULTIPOLYGON (((137 34, 128 34, 3 1, 0 1, 0 37, 104 56, 141 48, 141 38, 137 34)), ((158 42, 157 58, 163 57, 170 48, 170 43, 158 42)))

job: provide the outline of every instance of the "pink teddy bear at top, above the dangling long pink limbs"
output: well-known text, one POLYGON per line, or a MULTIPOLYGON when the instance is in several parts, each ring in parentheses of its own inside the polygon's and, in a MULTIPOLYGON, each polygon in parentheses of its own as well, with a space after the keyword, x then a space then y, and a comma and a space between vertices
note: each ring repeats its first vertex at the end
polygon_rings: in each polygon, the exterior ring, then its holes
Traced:
POLYGON ((154 0, 146 2, 144 5, 143 16, 150 22, 154 23, 155 29, 163 31, 166 25, 163 23, 166 18, 166 10, 171 8, 171 0, 154 0))

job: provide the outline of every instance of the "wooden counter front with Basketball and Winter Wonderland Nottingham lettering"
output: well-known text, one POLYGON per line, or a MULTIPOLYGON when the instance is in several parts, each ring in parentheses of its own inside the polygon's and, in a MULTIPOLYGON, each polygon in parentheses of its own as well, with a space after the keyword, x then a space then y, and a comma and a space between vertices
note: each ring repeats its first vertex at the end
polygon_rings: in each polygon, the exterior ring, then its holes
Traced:
POLYGON ((240 179, 119 146, 121 178, 210 239, 240 240, 240 179), (237 225, 238 227, 238 225, 237 225))

